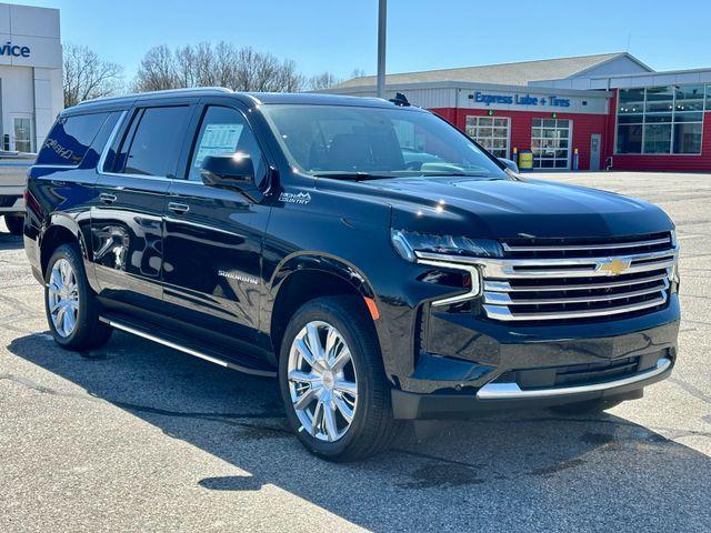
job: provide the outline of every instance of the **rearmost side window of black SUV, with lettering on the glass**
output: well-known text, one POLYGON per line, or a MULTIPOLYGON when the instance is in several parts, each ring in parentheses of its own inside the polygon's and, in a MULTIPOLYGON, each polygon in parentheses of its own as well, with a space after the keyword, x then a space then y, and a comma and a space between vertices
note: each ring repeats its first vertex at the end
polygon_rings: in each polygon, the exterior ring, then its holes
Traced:
POLYGON ((84 159, 109 113, 60 117, 47 135, 37 164, 76 165, 84 159))

